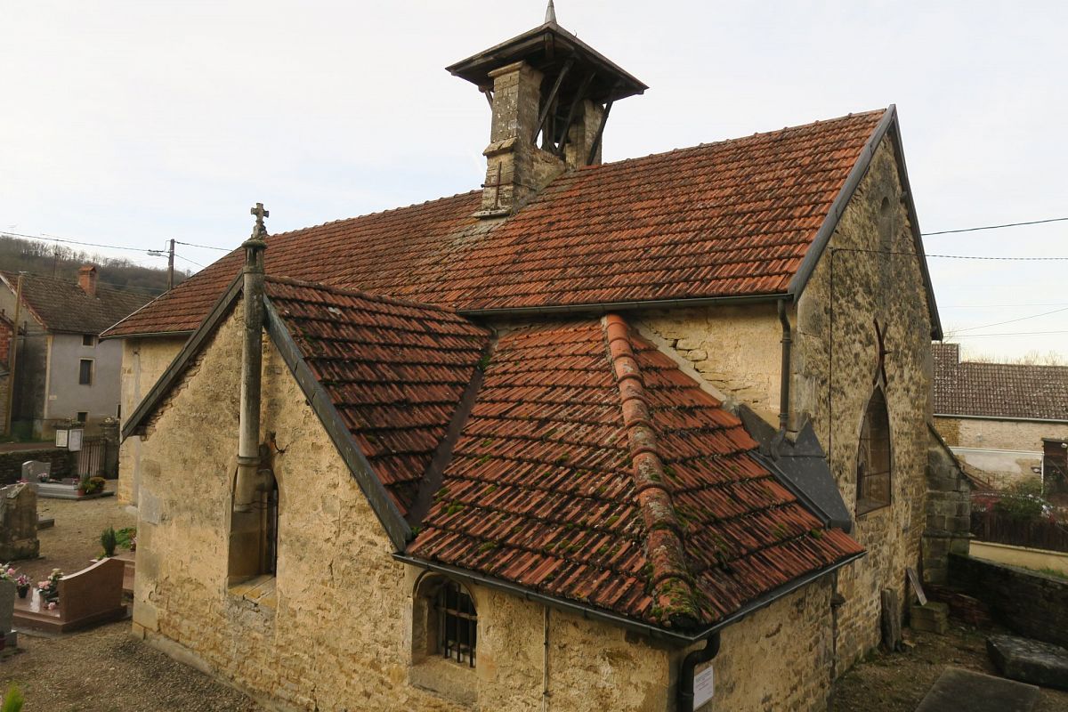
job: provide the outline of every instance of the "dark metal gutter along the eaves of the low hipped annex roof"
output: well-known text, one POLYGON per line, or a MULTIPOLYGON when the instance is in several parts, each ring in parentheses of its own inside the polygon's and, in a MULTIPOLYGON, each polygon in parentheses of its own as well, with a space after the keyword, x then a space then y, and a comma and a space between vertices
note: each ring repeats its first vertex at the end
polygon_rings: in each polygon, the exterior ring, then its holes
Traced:
POLYGON ((732 615, 727 616, 723 620, 719 621, 714 626, 707 628, 698 633, 692 633, 692 634, 678 633, 675 631, 670 631, 664 628, 657 628, 655 626, 649 626, 648 623, 638 622, 630 618, 626 618, 624 616, 619 616, 614 613, 609 613, 601 608, 595 608, 584 603, 576 603, 574 601, 568 601, 552 596, 546 596, 545 594, 538 594, 537 591, 532 591, 528 588, 523 588, 518 584, 513 584, 507 581, 501 581, 500 579, 491 579, 481 573, 475 573, 473 571, 468 571, 466 569, 459 569, 453 566, 447 566, 445 564, 435 564, 433 561, 425 561, 423 559, 409 556, 408 554, 394 553, 393 558, 398 561, 403 561, 405 564, 410 564, 411 566, 419 567, 421 569, 426 569, 427 571, 435 571, 437 573, 442 573, 447 576, 452 576, 462 582, 483 585, 486 586, 487 588, 504 591, 506 594, 517 596, 528 601, 535 601, 537 603, 541 603, 544 605, 556 608, 557 611, 563 611, 565 613, 570 613, 574 615, 581 616, 582 618, 588 620, 598 620, 601 622, 609 623, 611 626, 616 626, 618 628, 624 628, 626 630, 634 631, 635 633, 647 635, 653 639, 665 640, 668 643, 672 643, 679 646, 689 646, 693 645, 694 643, 700 643, 701 640, 707 639, 708 637, 723 630, 727 626, 736 623, 745 616, 769 606, 770 604, 774 603, 776 600, 783 598, 784 596, 788 596, 794 591, 796 591, 797 589, 816 581, 817 579, 821 579, 826 574, 831 573, 832 571, 836 571, 842 567, 846 566, 847 564, 855 561, 857 559, 866 555, 866 553, 867 552, 861 552, 859 554, 854 554, 852 556, 849 556, 848 558, 843 559, 842 561, 838 561, 837 564, 832 564, 831 566, 818 569, 816 571, 812 571, 803 576, 800 576, 799 579, 795 579, 788 584, 780 586, 779 588, 771 590, 757 599, 754 599, 753 601, 751 601, 747 605, 743 605, 741 608, 739 608, 732 615))

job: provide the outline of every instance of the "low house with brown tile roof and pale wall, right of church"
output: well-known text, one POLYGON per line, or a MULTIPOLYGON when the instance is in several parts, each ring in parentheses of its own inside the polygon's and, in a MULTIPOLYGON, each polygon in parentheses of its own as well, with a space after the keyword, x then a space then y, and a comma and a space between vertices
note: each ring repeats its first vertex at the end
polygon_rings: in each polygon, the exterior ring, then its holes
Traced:
POLYGON ((1068 438, 1068 366, 960 360, 933 344, 934 427, 995 486, 1037 478, 1042 440, 1068 438))

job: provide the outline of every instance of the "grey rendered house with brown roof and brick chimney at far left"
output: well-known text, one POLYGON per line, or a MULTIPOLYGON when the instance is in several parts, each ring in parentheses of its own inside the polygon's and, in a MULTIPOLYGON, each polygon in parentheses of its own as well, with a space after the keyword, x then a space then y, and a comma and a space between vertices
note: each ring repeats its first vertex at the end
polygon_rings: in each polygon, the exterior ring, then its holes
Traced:
MULTIPOLYGON (((0 272, 0 308, 14 316, 18 274, 0 272)), ((79 270, 77 284, 22 275, 12 429, 50 438, 60 423, 80 421, 93 430, 120 417, 122 347, 99 334, 147 301, 98 285, 92 265, 79 270)))

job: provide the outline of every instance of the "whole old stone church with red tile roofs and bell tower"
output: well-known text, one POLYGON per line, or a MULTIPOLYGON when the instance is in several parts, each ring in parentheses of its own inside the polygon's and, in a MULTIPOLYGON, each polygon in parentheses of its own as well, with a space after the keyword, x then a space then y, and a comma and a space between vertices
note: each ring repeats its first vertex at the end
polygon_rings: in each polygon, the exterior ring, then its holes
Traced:
POLYGON ((257 206, 108 332, 135 634, 279 709, 826 709, 949 545, 897 112, 602 163, 646 88, 551 9, 449 70, 484 186, 257 206))

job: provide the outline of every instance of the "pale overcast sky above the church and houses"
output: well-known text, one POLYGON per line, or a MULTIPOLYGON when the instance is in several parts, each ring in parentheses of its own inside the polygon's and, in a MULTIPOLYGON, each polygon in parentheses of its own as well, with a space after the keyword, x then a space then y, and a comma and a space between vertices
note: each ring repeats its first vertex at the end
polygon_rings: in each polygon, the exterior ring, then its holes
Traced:
MULTIPOLYGON (((924 232, 1068 216, 1068 3, 556 4, 650 88, 613 108, 606 160, 896 104, 924 232)), ((278 233, 476 188, 489 109, 442 67, 544 13, 543 0, 4 0, 0 231, 233 248, 256 201, 278 233)), ((926 243, 1065 257, 1066 238, 1061 222, 926 243)), ((1068 354, 1068 333, 974 337, 1068 332, 1068 262, 930 268, 970 352, 1068 354)))

